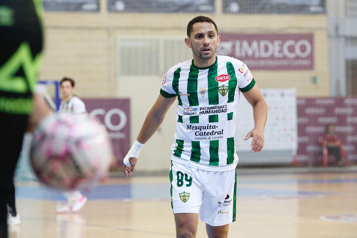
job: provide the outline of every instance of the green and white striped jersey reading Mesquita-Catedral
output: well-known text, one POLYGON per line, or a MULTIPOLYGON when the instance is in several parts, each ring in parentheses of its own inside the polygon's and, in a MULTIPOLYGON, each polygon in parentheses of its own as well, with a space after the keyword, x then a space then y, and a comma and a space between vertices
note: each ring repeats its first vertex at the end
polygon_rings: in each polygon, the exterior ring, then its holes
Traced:
POLYGON ((247 92, 254 85, 248 67, 228 56, 216 56, 209 67, 199 68, 188 60, 167 71, 160 93, 167 98, 177 96, 171 159, 207 171, 235 168, 240 91, 247 92))

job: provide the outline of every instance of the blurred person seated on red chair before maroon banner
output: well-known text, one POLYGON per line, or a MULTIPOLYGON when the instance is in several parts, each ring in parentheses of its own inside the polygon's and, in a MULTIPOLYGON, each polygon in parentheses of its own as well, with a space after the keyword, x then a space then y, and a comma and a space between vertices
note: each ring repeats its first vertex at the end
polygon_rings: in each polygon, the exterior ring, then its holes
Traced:
POLYGON ((326 132, 322 137, 321 144, 322 146, 326 146, 328 153, 336 158, 338 166, 342 166, 343 161, 340 152, 342 143, 336 134, 335 125, 330 124, 326 126, 326 132))

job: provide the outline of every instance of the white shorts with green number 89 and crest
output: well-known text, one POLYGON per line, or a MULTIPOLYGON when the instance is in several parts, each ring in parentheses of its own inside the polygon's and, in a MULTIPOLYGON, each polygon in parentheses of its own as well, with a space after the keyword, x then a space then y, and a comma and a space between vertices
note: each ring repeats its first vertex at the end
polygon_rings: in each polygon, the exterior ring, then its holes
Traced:
POLYGON ((170 181, 174 214, 200 213, 211 226, 236 220, 236 169, 212 172, 171 161, 170 181))

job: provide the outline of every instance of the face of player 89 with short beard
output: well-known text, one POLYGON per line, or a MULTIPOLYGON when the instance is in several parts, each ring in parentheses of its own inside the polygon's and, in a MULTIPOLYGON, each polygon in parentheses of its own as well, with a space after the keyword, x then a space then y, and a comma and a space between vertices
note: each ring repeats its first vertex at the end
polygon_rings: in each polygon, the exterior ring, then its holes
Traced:
POLYGON ((220 36, 212 23, 197 22, 193 25, 190 42, 193 54, 206 61, 216 54, 220 36))

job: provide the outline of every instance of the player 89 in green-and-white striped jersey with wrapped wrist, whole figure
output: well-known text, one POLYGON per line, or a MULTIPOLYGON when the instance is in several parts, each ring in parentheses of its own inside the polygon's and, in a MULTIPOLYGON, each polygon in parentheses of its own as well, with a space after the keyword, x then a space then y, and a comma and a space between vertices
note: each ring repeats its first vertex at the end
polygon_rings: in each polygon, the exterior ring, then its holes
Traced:
MULTIPOLYGON (((234 132, 240 92, 253 107, 255 127, 251 150, 264 146, 267 105, 248 67, 228 56, 216 56, 220 36, 215 22, 204 16, 187 25, 186 45, 193 60, 167 71, 159 98, 149 111, 137 140, 124 158, 125 176, 134 172, 142 146, 159 128, 176 100, 175 143, 171 154, 171 206, 176 236, 195 237, 200 219, 208 237, 226 238, 236 220, 234 132)), ((246 128, 242 128, 245 129, 246 128)))

